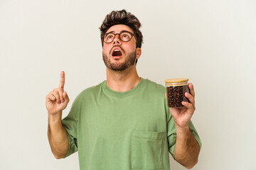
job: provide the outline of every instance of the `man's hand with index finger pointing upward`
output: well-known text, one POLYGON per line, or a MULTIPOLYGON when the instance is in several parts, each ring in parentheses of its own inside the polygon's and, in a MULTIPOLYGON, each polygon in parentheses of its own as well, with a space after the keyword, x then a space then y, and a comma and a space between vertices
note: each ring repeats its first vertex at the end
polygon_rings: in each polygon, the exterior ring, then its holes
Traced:
POLYGON ((66 91, 64 91, 65 73, 60 72, 60 86, 46 96, 46 108, 50 115, 62 113, 68 106, 69 98, 66 91))

